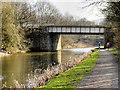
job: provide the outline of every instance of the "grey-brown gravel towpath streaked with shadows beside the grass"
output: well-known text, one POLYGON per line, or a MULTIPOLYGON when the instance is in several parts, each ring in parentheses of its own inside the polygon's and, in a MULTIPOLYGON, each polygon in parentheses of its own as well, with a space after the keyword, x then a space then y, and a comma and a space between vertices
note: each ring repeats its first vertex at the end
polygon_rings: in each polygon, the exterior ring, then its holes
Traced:
POLYGON ((96 67, 77 88, 118 88, 118 64, 108 50, 100 50, 96 67))

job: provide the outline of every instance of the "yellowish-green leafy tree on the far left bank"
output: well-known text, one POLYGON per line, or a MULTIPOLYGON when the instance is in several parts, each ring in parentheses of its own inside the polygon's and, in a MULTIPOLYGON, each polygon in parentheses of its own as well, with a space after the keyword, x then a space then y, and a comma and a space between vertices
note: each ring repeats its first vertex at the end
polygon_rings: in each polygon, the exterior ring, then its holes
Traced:
POLYGON ((24 32, 17 23, 15 5, 2 3, 2 6, 2 48, 9 52, 27 50, 24 32))

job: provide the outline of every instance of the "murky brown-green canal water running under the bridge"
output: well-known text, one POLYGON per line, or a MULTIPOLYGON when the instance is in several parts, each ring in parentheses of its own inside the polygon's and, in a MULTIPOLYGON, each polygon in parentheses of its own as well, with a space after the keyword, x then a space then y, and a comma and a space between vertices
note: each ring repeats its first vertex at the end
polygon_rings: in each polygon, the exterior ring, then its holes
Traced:
POLYGON ((93 48, 64 49, 58 52, 31 52, 18 53, 0 58, 0 87, 14 87, 15 83, 26 84, 28 76, 41 72, 48 66, 70 62, 93 48))

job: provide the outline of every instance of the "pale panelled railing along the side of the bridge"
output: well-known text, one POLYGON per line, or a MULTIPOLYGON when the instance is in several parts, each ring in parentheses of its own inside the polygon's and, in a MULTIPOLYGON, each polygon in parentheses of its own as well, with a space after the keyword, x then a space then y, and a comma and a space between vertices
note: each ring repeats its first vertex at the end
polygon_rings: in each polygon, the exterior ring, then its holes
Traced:
POLYGON ((104 33, 102 27, 47 27, 49 33, 104 33))

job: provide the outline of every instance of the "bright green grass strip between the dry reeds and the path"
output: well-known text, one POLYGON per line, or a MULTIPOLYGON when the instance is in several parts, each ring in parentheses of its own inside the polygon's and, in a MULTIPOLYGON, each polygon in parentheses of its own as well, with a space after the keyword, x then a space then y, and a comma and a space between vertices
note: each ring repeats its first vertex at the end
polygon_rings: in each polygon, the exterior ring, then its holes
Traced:
POLYGON ((49 88, 75 88, 78 82, 85 77, 95 66, 99 51, 93 52, 90 56, 85 58, 81 63, 72 67, 71 69, 54 76, 46 82, 46 85, 36 89, 49 88))

